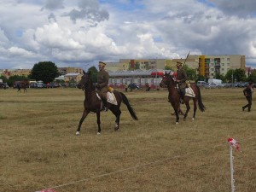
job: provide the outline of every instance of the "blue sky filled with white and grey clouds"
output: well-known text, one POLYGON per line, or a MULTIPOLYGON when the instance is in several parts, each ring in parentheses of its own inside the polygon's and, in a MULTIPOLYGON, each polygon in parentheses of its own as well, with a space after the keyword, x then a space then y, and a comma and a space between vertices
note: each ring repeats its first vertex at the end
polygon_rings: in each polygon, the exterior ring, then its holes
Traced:
POLYGON ((125 58, 246 55, 255 0, 0 0, 0 68, 84 67, 125 58))

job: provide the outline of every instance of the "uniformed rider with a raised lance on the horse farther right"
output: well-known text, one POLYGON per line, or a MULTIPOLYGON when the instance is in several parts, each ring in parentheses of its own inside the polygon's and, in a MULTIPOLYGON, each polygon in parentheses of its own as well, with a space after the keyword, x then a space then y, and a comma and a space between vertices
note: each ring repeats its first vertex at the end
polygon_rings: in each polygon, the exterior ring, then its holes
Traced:
POLYGON ((184 103, 184 96, 185 96, 185 89, 186 89, 186 80, 187 80, 187 73, 183 69, 183 64, 180 61, 177 61, 176 63, 177 67, 177 76, 176 81, 179 88, 179 94, 180 94, 180 102, 184 103))

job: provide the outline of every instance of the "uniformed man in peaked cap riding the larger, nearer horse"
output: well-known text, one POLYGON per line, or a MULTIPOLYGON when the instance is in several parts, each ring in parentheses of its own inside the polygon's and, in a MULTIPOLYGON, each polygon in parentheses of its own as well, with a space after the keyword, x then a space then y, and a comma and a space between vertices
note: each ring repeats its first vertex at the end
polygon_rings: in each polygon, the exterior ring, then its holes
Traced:
POLYGON ((99 73, 97 75, 96 89, 102 99, 105 111, 108 111, 107 92, 108 92, 108 72, 105 71, 106 63, 99 62, 99 73))

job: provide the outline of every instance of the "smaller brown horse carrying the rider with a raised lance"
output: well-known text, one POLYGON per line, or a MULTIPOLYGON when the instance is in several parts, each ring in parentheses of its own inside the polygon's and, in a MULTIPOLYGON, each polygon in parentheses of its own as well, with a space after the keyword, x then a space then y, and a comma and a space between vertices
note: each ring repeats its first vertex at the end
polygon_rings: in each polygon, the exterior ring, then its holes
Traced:
MULTIPOLYGON (((163 76, 163 79, 160 82, 160 87, 168 88, 168 91, 169 91, 168 99, 169 99, 169 102, 171 102, 172 108, 175 111, 176 124, 178 124, 178 121, 179 121, 178 112, 180 110, 180 95, 177 90, 177 82, 172 79, 172 76, 170 75, 170 73, 165 73, 165 75, 163 76)), ((188 113, 189 113, 189 109, 190 109, 189 100, 190 99, 192 99, 194 102, 194 114, 193 114, 192 120, 195 119, 195 113, 197 110, 197 102, 198 102, 198 106, 199 106, 201 112, 204 112, 206 109, 204 104, 202 103, 200 88, 196 84, 191 84, 190 88, 194 91, 195 97, 184 96, 184 103, 187 108, 187 110, 183 116, 184 120, 187 118, 188 113)))

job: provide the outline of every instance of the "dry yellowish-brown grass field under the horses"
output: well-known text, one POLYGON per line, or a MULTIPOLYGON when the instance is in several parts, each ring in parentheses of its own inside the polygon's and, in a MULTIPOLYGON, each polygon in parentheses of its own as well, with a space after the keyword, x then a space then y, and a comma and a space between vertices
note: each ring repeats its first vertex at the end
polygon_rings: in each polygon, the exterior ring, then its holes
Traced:
POLYGON ((127 92, 139 120, 122 104, 119 131, 102 113, 100 136, 93 113, 75 135, 82 90, 16 91, 0 90, 1 192, 231 191, 229 137, 236 191, 256 191, 256 103, 242 112, 241 89, 201 90, 206 112, 178 125, 167 90, 127 92))

